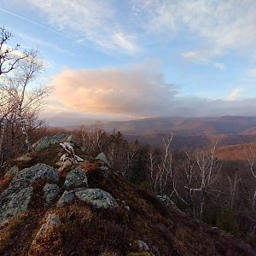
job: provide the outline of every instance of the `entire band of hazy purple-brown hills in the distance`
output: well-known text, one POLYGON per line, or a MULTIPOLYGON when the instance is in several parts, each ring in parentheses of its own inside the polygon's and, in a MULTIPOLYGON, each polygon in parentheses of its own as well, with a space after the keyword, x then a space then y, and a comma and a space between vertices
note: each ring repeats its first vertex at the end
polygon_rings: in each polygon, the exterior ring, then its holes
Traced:
MULTIPOLYGON (((51 119, 55 126, 62 126, 61 119, 51 119)), ((212 137, 219 137, 220 146, 256 143, 256 117, 158 117, 127 121, 93 121, 76 117, 65 119, 67 130, 78 129, 79 125, 99 125, 103 130, 121 131, 125 137, 143 144, 162 145, 162 137, 173 133, 174 149, 207 148, 212 137), (75 120, 75 121, 74 121, 75 120)), ((63 124, 63 123, 62 123, 63 124)))

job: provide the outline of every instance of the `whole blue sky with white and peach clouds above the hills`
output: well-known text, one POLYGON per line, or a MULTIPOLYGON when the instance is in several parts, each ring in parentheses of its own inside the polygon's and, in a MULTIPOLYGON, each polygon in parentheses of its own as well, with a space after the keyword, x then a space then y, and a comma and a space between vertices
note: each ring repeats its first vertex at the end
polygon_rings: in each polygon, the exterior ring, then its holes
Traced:
POLYGON ((255 116, 255 0, 0 0, 0 26, 39 49, 46 119, 255 116))

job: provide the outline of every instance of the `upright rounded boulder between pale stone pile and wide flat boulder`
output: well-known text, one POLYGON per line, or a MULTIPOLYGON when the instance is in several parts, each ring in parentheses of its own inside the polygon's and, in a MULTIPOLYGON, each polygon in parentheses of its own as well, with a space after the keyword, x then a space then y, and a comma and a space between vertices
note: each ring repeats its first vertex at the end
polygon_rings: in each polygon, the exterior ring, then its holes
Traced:
POLYGON ((63 185, 65 189, 75 189, 79 187, 88 187, 87 176, 84 169, 77 167, 67 174, 65 183, 63 185))

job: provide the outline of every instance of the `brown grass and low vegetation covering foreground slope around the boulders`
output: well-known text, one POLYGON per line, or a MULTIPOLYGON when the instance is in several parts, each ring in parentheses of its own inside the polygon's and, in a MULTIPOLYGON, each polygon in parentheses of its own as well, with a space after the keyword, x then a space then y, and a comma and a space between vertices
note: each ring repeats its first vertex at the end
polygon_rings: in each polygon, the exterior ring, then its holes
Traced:
MULTIPOLYGON (((53 165, 55 158, 48 158, 56 153, 52 150, 51 154, 50 149, 33 153, 29 164, 17 164, 30 166, 40 160, 53 165)), ((119 208, 97 210, 77 201, 71 206, 48 209, 40 192, 44 183, 36 183, 33 203, 26 214, 1 227, 1 255, 253 255, 233 236, 167 207, 118 172, 110 171, 105 179, 100 177, 95 160, 81 166, 90 167, 90 188, 108 191, 119 199, 119 208), (40 243, 31 247, 50 212, 59 216, 61 226, 49 230, 40 243), (139 250, 138 240, 147 243, 148 252, 139 250)), ((62 183, 61 179, 59 185, 62 183)))

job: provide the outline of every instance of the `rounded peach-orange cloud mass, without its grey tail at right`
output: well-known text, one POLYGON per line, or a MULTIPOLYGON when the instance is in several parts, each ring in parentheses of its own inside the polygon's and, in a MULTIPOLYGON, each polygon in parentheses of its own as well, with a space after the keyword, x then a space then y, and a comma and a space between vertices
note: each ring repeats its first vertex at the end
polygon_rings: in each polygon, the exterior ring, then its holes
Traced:
POLYGON ((54 97, 64 107, 85 113, 154 115, 170 108, 175 94, 162 74, 146 67, 67 69, 53 85, 54 97))

